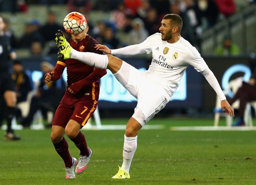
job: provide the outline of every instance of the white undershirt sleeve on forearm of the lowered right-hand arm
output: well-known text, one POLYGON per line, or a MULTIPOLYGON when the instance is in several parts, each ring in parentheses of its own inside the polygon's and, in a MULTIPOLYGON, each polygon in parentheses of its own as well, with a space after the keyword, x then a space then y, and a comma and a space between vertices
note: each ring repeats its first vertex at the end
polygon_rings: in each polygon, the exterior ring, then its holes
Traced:
POLYGON ((201 72, 201 74, 205 77, 207 82, 210 84, 210 86, 213 88, 213 90, 217 93, 219 96, 220 101, 226 99, 226 96, 224 95, 223 91, 221 90, 219 83, 214 76, 213 72, 206 68, 204 71, 201 72))

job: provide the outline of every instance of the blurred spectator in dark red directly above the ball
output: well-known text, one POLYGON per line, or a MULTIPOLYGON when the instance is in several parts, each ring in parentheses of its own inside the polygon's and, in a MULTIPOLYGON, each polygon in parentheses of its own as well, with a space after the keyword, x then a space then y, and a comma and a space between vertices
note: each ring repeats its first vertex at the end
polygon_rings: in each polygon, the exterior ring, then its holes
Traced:
MULTIPOLYGON (((85 14, 91 10, 90 0, 67 0, 67 7, 69 12, 80 12, 85 14)), ((54 34, 55 35, 55 34, 54 34)))

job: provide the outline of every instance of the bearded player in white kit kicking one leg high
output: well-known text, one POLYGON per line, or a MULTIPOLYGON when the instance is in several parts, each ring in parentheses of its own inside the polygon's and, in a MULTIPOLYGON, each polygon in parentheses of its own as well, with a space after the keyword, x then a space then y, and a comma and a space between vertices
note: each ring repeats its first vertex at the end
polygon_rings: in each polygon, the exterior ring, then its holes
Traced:
POLYGON ((162 20, 160 33, 149 36, 140 44, 110 50, 105 45, 95 48, 107 55, 78 52, 72 49, 61 32, 57 32, 58 53, 63 59, 74 58, 96 68, 109 69, 116 79, 138 99, 134 114, 127 123, 124 135, 123 164, 112 178, 130 178, 129 169, 137 148, 139 130, 156 113, 163 109, 178 88, 179 82, 189 65, 202 73, 221 100, 221 108, 234 116, 234 110, 226 101, 217 79, 208 68, 199 52, 181 37, 182 19, 176 14, 167 14, 162 20), (152 52, 152 62, 145 73, 110 54, 136 55, 152 52))

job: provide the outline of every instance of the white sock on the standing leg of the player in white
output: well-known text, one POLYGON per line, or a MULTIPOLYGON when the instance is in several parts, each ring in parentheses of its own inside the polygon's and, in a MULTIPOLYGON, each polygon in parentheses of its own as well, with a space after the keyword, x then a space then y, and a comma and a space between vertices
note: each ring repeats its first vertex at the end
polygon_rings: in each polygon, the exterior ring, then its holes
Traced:
POLYGON ((137 136, 126 137, 124 135, 123 164, 121 169, 129 173, 132 158, 137 149, 137 136))

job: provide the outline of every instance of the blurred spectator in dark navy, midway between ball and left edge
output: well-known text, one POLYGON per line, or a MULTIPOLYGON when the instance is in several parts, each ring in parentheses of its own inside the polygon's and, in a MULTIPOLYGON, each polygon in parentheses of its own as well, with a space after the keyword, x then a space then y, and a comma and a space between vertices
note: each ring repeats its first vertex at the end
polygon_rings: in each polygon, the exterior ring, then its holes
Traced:
POLYGON ((33 20, 25 26, 25 32, 20 38, 19 46, 21 48, 30 48, 33 41, 38 40, 43 43, 43 37, 39 32, 39 22, 33 20))

